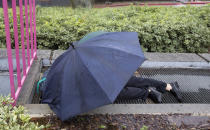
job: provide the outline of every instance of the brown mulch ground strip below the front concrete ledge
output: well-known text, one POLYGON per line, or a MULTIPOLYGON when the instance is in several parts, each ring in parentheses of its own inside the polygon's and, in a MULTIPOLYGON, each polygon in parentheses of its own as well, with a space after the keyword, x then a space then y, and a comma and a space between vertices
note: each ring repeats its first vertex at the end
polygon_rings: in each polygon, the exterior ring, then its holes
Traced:
MULTIPOLYGON (((169 121, 170 119, 179 117, 190 117, 191 115, 149 115, 149 114, 116 114, 116 115, 82 115, 72 118, 69 121, 62 122, 55 116, 47 116, 45 118, 33 118, 33 122, 39 124, 50 124, 48 129, 52 130, 189 130, 189 129, 210 129, 210 117, 201 121, 201 118, 193 120, 193 125, 181 124, 169 121), (201 121, 201 122, 200 122, 201 121), (199 122, 199 123, 197 123, 199 122)), ((187 118, 190 120, 190 118, 187 118)), ((189 122, 189 121, 188 121, 189 122)))

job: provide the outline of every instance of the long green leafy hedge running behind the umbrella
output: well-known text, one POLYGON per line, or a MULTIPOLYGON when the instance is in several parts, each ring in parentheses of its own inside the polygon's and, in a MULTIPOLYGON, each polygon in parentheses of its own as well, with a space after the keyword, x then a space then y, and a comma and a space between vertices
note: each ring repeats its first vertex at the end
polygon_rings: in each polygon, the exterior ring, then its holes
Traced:
MULTIPOLYGON (((2 18, 2 30, 1 22, 2 18)), ((39 48, 67 49, 68 42, 99 30, 138 32, 140 43, 148 52, 208 52, 210 5, 75 10, 37 7, 39 48)), ((0 44, 5 43, 3 33, 0 32, 0 44)))

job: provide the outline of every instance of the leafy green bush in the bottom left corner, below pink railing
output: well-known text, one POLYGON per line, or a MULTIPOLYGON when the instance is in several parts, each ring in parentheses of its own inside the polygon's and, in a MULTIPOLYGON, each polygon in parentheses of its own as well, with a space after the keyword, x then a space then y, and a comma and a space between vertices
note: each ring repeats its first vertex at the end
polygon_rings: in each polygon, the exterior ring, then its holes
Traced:
POLYGON ((38 126, 30 122, 30 117, 24 114, 23 106, 13 107, 13 100, 8 97, 0 97, 0 129, 1 130, 41 130, 44 126, 38 126))

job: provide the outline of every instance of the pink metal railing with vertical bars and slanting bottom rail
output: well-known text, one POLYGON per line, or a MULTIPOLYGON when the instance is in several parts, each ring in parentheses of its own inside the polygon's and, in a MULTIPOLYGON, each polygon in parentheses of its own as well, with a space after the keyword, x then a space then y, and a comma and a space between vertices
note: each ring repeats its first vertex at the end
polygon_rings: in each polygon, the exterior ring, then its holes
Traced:
MULTIPOLYGON (((16 66, 17 66, 17 90, 15 91, 14 74, 13 74, 13 61, 12 61, 12 49, 11 49, 11 36, 10 36, 10 24, 8 16, 8 3, 7 0, 3 0, 3 10, 4 10, 4 23, 5 23, 5 33, 6 33, 6 44, 7 44, 7 55, 10 73, 10 87, 11 87, 11 97, 16 101, 30 67, 37 57, 37 45, 36 45, 36 5, 35 0, 25 0, 25 14, 23 14, 23 2, 19 0, 19 14, 20 14, 20 32, 21 32, 21 47, 22 47, 22 75, 20 67, 20 56, 19 56, 19 39, 18 39, 18 20, 17 20, 17 9, 16 0, 12 0, 12 14, 13 14, 13 30, 14 30, 14 41, 15 41, 15 54, 16 54, 16 66), (28 5, 29 3, 29 5, 28 5), (29 12, 28 12, 29 8, 29 12), (30 24, 28 24, 28 14, 30 18, 30 24), (25 23, 24 23, 25 15, 25 23), (24 26, 25 25, 25 26, 24 26), (24 34, 24 29, 26 30, 24 34), (30 29, 30 30, 29 30, 30 29), (30 36, 29 36, 30 32, 30 36), (25 39, 26 38, 26 39, 25 39), (26 41, 26 43, 25 43, 26 41), (25 56, 25 45, 27 48, 27 64, 25 56), (31 52, 30 52, 31 51, 31 52)), ((11 34, 12 35, 12 34, 11 34)))

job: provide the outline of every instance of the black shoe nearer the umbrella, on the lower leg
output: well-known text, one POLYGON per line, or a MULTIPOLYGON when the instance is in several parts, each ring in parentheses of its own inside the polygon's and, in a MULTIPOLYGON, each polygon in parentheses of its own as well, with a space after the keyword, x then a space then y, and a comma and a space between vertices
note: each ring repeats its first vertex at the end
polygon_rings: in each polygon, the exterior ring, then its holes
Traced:
POLYGON ((155 103, 162 103, 162 94, 158 92, 155 88, 149 88, 151 90, 149 92, 148 97, 151 98, 155 103))

